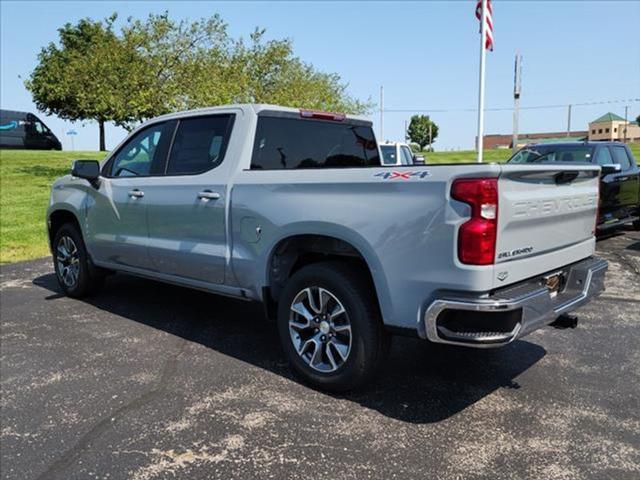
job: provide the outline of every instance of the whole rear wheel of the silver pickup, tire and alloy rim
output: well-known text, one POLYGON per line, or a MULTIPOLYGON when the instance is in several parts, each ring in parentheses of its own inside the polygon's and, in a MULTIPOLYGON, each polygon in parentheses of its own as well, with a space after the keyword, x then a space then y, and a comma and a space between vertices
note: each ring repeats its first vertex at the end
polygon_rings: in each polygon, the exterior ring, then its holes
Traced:
POLYGON ((278 330, 293 371, 325 390, 362 386, 388 350, 370 280, 337 262, 303 267, 289 279, 278 305, 278 330))

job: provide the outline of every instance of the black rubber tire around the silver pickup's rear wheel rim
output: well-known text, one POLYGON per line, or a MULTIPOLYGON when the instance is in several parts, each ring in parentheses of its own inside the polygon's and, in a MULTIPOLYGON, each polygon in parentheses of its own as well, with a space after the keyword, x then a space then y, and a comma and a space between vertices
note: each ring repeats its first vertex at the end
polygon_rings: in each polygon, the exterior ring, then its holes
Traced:
MULTIPOLYGON (((322 300, 319 300, 319 302, 321 303, 322 300)), ((294 317, 296 316, 295 314, 293 315, 294 317)), ((302 317, 299 318, 303 319, 302 317)), ((336 320, 336 322, 338 321, 336 320)), ((297 271, 287 281, 280 296, 277 323, 282 348, 293 372, 304 382, 322 390, 340 392, 355 390, 363 386, 373 378, 389 350, 389 335, 382 323, 378 301, 371 280, 361 269, 343 263, 315 263, 297 271), (333 296, 331 301, 340 302, 346 312, 346 320, 340 321, 350 324, 350 349, 346 359, 343 360, 338 357, 336 349, 327 345, 327 343, 331 343, 337 338, 329 339, 323 344, 323 348, 333 352, 332 358, 336 357, 342 362, 337 368, 329 366, 329 368, 335 368, 333 371, 318 371, 310 366, 309 360, 305 360, 294 345, 294 341, 298 342, 298 346, 304 342, 299 337, 296 337, 297 331, 291 333, 293 330, 290 330, 290 309, 294 300, 300 298, 299 295, 306 288, 312 287, 325 289, 333 296)), ((314 325, 318 324, 314 323, 314 325)), ((333 319, 331 320, 331 325, 334 325, 333 319)), ((329 335, 332 337, 341 335, 333 333, 333 327, 331 328, 332 333, 329 335)), ((317 328, 312 329, 310 334, 314 336, 320 335, 322 331, 318 332, 318 330, 317 328), (318 333, 313 334, 313 331, 318 333)), ((315 345, 317 348, 318 344, 315 345)), ((328 363, 326 350, 321 355, 327 359, 328 363)), ((312 357, 310 362, 313 362, 313 355, 310 354, 310 356, 312 357)), ((332 363, 335 362, 332 361, 332 363)))

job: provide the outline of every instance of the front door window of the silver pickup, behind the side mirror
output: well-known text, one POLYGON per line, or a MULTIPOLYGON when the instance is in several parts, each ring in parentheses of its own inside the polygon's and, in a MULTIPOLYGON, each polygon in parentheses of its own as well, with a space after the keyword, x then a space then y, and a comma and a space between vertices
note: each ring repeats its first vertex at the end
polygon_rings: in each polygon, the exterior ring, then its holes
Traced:
POLYGON ((140 177, 151 174, 151 165, 155 161, 163 161, 158 147, 163 139, 165 124, 155 124, 133 136, 119 151, 111 162, 109 176, 140 177))

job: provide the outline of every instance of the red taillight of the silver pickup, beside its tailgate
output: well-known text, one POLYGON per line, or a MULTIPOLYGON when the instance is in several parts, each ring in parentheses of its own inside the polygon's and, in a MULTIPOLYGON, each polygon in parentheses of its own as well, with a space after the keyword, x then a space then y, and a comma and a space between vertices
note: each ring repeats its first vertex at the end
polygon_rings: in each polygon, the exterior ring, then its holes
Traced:
POLYGON ((471 206, 471 219, 458 231, 458 259, 469 265, 491 265, 498 237, 498 180, 454 180, 451 196, 471 206))

